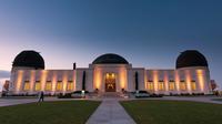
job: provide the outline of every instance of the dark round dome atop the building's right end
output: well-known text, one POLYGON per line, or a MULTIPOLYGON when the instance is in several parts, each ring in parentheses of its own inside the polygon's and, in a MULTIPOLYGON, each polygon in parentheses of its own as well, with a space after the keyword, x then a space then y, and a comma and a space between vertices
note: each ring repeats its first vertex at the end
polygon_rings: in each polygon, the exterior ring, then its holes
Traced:
POLYGON ((205 66, 208 68, 208 61, 205 56, 196 50, 186 50, 181 52, 176 60, 176 69, 190 68, 190 66, 205 66))

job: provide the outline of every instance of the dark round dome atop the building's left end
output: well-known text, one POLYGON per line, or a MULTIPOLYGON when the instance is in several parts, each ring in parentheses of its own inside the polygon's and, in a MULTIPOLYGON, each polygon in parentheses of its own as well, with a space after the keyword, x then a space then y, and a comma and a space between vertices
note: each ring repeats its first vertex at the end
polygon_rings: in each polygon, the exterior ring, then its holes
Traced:
POLYGON ((22 51, 16 56, 12 66, 34 68, 36 70, 44 69, 44 60, 39 52, 22 51))

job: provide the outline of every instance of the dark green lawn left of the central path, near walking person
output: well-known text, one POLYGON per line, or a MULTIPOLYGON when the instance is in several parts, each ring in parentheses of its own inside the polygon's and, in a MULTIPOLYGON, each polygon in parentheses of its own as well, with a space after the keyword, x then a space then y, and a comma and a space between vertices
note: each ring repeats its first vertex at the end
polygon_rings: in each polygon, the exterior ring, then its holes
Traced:
POLYGON ((99 106, 93 101, 60 101, 0 107, 0 124, 84 124, 99 106))

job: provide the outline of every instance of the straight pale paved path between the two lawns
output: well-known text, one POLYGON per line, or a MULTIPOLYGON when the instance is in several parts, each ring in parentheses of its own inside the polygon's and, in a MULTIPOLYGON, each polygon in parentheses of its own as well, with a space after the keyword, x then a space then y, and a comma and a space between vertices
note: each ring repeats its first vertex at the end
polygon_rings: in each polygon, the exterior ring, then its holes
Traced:
POLYGON ((87 124, 135 124, 115 99, 104 99, 87 124))

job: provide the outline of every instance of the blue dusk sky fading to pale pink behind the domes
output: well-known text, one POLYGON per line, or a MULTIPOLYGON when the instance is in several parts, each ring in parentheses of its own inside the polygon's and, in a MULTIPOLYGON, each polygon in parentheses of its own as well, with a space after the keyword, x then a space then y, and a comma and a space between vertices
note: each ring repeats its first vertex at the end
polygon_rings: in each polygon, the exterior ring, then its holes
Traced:
POLYGON ((117 53, 133 66, 174 69, 184 50, 205 55, 222 84, 221 0, 0 0, 0 78, 23 50, 47 69, 88 68, 117 53))

